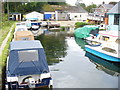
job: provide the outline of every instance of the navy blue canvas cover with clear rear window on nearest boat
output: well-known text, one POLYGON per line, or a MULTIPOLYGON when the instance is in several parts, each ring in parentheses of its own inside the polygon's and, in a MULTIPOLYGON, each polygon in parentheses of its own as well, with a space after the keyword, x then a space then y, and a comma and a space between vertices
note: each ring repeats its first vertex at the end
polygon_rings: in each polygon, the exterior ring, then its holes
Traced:
POLYGON ((49 72, 49 68, 40 41, 11 42, 7 76, 23 76, 47 72, 49 72))

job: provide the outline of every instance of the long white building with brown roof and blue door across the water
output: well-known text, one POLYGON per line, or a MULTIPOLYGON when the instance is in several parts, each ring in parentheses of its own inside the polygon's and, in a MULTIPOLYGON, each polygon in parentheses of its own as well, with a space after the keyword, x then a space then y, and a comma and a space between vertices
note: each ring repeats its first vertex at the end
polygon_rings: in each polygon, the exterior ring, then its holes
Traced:
POLYGON ((86 21, 88 12, 82 7, 78 6, 67 6, 67 5, 51 5, 51 12, 44 12, 44 18, 50 17, 54 20, 66 21, 66 20, 79 20, 86 21), (53 13, 55 12, 55 13, 53 13), (49 15, 48 15, 49 14, 49 15))

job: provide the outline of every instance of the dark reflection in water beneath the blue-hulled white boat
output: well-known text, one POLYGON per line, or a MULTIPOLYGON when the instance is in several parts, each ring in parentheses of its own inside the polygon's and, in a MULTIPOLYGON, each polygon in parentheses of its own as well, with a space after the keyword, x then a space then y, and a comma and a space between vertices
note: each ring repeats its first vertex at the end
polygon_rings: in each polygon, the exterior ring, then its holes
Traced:
POLYGON ((96 64, 96 68, 99 70, 103 70, 107 74, 112 76, 120 75, 120 65, 119 63, 113 63, 96 57, 88 52, 86 52, 85 56, 87 56, 94 64, 96 64))

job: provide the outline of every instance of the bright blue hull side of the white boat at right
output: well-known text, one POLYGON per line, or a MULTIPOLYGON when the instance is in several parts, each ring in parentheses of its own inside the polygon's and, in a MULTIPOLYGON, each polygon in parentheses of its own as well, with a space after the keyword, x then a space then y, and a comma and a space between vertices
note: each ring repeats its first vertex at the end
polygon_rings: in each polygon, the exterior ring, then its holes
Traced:
POLYGON ((120 58, 118 58, 118 57, 113 57, 113 56, 104 54, 104 53, 99 52, 99 51, 97 51, 97 50, 94 50, 94 49, 92 49, 92 48, 90 48, 90 47, 85 46, 85 50, 86 50, 87 52, 89 52, 89 53, 91 53, 91 54, 93 54, 93 55, 95 55, 95 56, 98 56, 98 57, 100 57, 100 58, 103 58, 103 59, 105 59, 105 60, 113 61, 113 62, 120 62, 120 58))

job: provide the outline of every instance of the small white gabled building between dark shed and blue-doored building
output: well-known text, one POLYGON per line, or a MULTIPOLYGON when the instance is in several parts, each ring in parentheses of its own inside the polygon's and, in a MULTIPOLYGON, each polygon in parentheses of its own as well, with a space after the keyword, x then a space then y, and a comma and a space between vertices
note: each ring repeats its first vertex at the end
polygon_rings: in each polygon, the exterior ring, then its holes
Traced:
POLYGON ((25 19, 27 20, 43 20, 43 14, 42 13, 39 13, 39 12, 36 12, 36 11, 33 11, 31 13, 28 13, 25 15, 25 19))

